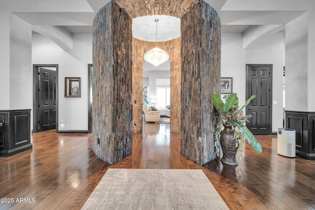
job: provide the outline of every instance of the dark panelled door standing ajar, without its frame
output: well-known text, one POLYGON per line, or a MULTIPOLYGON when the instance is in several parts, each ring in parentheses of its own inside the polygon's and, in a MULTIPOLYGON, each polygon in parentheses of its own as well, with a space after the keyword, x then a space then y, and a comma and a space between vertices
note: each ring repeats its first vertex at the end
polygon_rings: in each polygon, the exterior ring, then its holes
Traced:
POLYGON ((56 71, 39 68, 39 131, 56 128, 56 71))

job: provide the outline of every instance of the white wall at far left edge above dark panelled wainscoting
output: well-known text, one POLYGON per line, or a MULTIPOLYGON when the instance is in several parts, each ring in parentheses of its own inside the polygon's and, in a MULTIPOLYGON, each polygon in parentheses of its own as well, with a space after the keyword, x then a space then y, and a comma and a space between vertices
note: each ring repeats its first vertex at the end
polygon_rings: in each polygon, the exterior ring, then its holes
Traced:
POLYGON ((0 12, 0 110, 32 109, 32 26, 0 12))

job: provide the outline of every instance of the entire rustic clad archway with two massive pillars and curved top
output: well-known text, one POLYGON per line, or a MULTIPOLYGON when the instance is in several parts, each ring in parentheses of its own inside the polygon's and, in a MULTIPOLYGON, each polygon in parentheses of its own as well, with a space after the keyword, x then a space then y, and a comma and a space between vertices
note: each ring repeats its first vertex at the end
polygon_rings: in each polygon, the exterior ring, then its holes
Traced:
POLYGON ((219 16, 202 0, 146 2, 111 1, 95 17, 93 150, 110 164, 131 154, 131 132, 142 128, 142 58, 132 46, 134 42, 141 42, 143 49, 151 45, 132 38, 131 18, 170 15, 181 18, 182 36, 158 44, 171 55, 171 120, 177 121, 171 123, 175 125, 171 131, 181 133, 183 156, 205 164, 215 158, 210 94, 220 91, 219 16), (176 43, 180 48, 167 46, 176 43))

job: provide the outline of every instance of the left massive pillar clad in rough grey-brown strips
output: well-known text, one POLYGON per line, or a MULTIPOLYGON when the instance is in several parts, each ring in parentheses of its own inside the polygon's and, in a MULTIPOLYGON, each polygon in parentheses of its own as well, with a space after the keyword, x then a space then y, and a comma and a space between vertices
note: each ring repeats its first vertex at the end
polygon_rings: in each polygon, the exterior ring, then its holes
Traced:
POLYGON ((132 152, 131 24, 129 15, 112 2, 94 20, 93 150, 110 164, 132 152))

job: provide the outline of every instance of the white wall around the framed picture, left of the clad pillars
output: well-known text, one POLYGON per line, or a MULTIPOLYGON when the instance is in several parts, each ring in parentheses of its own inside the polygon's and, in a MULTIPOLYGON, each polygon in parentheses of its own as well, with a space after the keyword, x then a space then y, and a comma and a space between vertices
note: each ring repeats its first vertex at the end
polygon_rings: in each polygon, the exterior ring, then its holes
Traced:
POLYGON ((59 64, 58 129, 88 130, 88 64, 92 63, 92 34, 73 34, 73 50, 67 52, 41 34, 33 34, 32 63, 59 64), (64 77, 81 77, 80 98, 64 97, 64 77))

